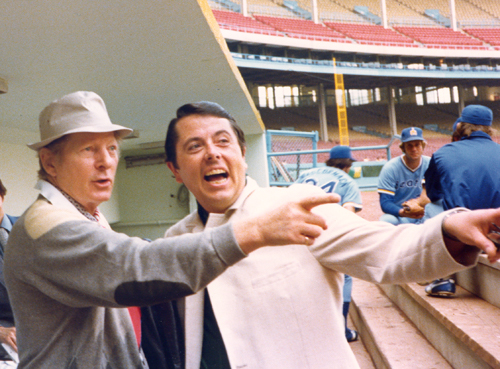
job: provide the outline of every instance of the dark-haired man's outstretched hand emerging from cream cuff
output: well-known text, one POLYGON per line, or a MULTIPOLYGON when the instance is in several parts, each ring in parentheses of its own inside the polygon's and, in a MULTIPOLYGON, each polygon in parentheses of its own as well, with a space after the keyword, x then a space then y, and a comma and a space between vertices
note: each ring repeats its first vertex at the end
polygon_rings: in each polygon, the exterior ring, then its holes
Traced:
POLYGON ((473 246, 484 251, 493 263, 500 259, 500 251, 492 242, 500 240, 495 226, 498 224, 500 209, 452 212, 443 219, 442 224, 446 247, 461 264, 468 264, 466 255, 470 253, 466 251, 473 246))

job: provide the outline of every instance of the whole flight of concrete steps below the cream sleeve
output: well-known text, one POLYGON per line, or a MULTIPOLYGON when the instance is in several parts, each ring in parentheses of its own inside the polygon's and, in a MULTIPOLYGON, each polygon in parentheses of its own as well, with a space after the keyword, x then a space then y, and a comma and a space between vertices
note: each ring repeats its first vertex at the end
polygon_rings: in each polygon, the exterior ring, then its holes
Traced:
POLYGON ((452 298, 354 281, 351 318, 377 369, 500 369, 500 263, 455 277, 452 298))

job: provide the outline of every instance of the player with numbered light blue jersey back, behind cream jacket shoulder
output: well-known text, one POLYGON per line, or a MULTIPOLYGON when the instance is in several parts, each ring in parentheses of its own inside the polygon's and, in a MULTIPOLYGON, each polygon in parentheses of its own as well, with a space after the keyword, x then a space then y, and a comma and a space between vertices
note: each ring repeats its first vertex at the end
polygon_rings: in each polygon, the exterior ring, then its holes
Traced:
MULTIPOLYGON (((356 181, 348 174, 352 163, 355 161, 356 159, 353 158, 349 146, 335 146, 330 150, 330 159, 326 161, 326 167, 306 170, 299 176, 296 182, 321 187, 328 193, 335 192, 341 197, 340 205, 356 213, 363 208, 361 204, 361 192, 356 181)), ((344 277, 344 304, 342 313, 345 320, 345 336, 349 342, 358 339, 358 332, 347 327, 351 291, 352 278, 346 274, 344 277)))

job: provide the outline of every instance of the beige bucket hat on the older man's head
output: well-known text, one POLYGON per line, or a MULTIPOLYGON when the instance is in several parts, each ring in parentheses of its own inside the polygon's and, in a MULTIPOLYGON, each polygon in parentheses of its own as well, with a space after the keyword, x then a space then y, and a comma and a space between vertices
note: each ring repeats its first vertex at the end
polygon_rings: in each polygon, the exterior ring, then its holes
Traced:
POLYGON ((52 141, 79 132, 118 132, 123 138, 132 129, 111 123, 102 98, 95 92, 78 91, 52 101, 39 116, 40 142, 28 144, 39 150, 52 141))

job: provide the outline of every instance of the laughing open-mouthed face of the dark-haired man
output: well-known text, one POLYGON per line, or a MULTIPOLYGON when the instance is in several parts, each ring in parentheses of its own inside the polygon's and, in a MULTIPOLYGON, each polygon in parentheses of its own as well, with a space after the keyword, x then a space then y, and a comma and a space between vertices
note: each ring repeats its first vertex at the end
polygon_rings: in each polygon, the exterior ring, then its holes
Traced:
POLYGON ((175 127, 177 168, 167 165, 210 213, 224 213, 245 187, 244 152, 225 118, 191 115, 175 127))

